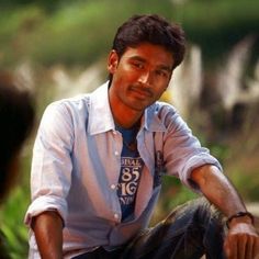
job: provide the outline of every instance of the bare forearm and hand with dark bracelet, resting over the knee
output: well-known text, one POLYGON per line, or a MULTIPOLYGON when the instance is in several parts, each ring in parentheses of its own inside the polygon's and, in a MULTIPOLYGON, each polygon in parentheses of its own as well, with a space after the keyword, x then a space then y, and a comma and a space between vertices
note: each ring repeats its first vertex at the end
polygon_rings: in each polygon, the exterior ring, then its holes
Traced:
MULTIPOLYGON (((246 206, 229 180, 215 167, 203 166, 191 173, 206 199, 217 206, 226 217, 246 212, 246 206)), ((227 258, 259 258, 259 237, 248 216, 234 218, 225 239, 227 258)))

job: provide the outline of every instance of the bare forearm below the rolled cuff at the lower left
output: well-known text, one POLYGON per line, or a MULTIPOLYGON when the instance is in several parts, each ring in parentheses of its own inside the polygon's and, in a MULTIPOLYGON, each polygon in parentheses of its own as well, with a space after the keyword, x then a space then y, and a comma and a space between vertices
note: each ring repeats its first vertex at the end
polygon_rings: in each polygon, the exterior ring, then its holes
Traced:
POLYGON ((32 221, 41 258, 63 258, 63 219, 55 211, 44 212, 32 221))

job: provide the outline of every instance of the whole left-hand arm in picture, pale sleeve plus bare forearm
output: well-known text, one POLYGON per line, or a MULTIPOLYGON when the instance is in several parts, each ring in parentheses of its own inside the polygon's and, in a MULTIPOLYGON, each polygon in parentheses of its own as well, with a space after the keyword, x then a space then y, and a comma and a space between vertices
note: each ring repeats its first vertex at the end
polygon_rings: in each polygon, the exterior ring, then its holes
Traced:
MULTIPOLYGON (((42 258, 63 258, 61 218, 67 215, 66 196, 70 189, 71 131, 71 121, 64 106, 49 105, 33 148, 32 203, 25 215, 25 223, 34 230, 42 258)), ((32 249, 36 249, 34 244, 32 249)))

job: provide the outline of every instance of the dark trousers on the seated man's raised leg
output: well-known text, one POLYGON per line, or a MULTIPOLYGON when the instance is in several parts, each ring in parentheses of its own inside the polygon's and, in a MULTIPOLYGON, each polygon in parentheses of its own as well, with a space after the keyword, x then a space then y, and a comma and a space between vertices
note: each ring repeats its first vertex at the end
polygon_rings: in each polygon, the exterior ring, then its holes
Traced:
POLYGON ((205 199, 188 202, 153 228, 139 233, 124 248, 102 247, 75 259, 223 259, 224 224, 205 199))

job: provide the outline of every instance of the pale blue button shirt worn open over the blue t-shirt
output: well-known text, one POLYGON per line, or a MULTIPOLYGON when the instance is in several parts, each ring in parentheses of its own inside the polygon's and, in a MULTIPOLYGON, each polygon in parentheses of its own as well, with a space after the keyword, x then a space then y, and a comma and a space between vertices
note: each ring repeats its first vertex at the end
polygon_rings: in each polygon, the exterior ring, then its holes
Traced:
MULTIPOLYGON (((33 150, 32 203, 25 223, 30 226, 33 216, 56 210, 65 223, 65 258, 99 246, 120 246, 147 227, 161 188, 159 170, 194 189, 189 181, 194 168, 211 164, 221 169, 173 106, 154 103, 146 109, 137 134, 145 165, 135 217, 121 223, 116 184, 122 143, 108 83, 90 94, 54 102, 44 112, 33 150)), ((33 232, 30 258, 40 258, 33 232)))

